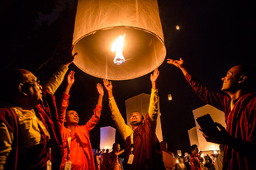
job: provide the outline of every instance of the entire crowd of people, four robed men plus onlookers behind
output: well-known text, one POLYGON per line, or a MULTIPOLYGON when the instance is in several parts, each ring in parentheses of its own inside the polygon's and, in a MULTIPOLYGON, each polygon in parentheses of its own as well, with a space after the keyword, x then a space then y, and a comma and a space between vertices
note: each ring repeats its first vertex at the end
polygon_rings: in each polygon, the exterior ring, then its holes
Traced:
POLYGON ((256 169, 256 93, 254 68, 237 65, 222 78, 221 90, 212 91, 192 76, 183 59, 168 59, 168 64, 180 68, 192 91, 202 101, 225 112, 227 129, 216 123, 217 131, 201 129, 207 141, 220 144, 221 153, 212 161, 211 155, 201 157, 196 144, 190 158, 173 157, 166 142, 155 135, 159 111, 156 86, 159 70, 150 75, 151 94, 148 113, 134 112, 130 126, 116 105, 111 81, 97 83, 98 100, 92 117, 85 125, 78 125, 77 111, 68 111, 69 90, 74 72, 67 76, 67 87, 56 105, 55 91, 64 80, 69 64, 77 55, 70 50, 69 58, 42 87, 36 76, 26 69, 2 73, 0 108, 0 170, 1 169, 72 169, 72 170, 161 170, 161 169, 256 169), (102 111, 104 87, 107 91, 111 117, 124 139, 125 149, 113 144, 112 151, 92 149, 89 132, 97 125, 102 111), (222 147, 225 146, 225 147, 222 147), (123 153, 124 161, 121 161, 123 153), (123 165, 122 165, 123 164, 123 165))

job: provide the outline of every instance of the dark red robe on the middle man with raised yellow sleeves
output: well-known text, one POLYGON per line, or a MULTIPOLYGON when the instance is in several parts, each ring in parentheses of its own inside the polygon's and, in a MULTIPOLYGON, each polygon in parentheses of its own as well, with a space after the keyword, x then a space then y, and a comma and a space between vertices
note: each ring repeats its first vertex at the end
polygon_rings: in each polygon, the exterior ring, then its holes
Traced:
POLYGON ((145 122, 134 131, 134 159, 132 165, 126 164, 130 155, 130 136, 126 138, 125 145, 125 169, 127 170, 161 170, 164 168, 162 150, 159 139, 155 135, 155 127, 149 117, 145 116, 145 122))

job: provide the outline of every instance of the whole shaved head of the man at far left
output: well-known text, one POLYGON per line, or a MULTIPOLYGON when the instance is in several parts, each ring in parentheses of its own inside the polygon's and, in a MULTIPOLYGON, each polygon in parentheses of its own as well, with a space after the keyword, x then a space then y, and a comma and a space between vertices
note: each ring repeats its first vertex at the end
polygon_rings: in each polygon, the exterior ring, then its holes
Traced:
POLYGON ((13 69, 4 72, 1 83, 3 102, 23 109, 31 109, 42 102, 42 87, 36 76, 26 69, 13 69))

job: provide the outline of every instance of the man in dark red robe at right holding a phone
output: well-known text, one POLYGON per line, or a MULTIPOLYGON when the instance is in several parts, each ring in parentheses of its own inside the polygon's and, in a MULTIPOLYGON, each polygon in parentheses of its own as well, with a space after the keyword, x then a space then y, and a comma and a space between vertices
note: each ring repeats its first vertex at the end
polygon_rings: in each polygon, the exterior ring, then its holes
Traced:
POLYGON ((221 90, 225 94, 214 92, 204 86, 184 67, 183 59, 168 59, 183 72, 192 91, 202 101, 225 112, 227 129, 216 123, 219 131, 201 130, 207 141, 225 144, 223 169, 256 169, 256 93, 255 67, 236 65, 230 68, 224 78, 221 90))

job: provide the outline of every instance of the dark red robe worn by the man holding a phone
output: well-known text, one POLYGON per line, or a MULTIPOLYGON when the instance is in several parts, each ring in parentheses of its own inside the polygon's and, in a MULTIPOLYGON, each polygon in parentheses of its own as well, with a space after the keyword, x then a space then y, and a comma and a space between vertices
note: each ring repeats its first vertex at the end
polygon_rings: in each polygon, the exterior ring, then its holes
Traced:
POLYGON ((236 139, 247 142, 248 149, 225 147, 223 169, 252 170, 256 169, 256 93, 248 93, 240 97, 233 110, 230 108, 230 96, 212 91, 191 74, 185 78, 202 101, 225 112, 227 132, 236 139))

